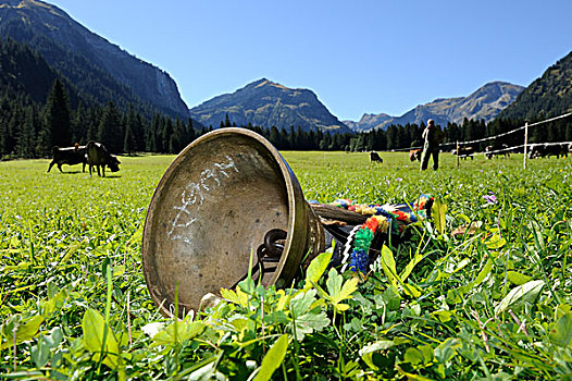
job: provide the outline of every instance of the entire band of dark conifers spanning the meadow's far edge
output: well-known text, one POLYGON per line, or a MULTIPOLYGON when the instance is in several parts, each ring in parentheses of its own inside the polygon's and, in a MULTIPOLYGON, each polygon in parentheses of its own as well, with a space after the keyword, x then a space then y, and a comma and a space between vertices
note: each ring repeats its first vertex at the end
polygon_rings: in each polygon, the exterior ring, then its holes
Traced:
MULTIPOLYGON (((154 113, 145 116, 134 107, 121 111, 113 101, 104 106, 70 107, 65 86, 55 79, 45 105, 35 102, 22 91, 5 86, 0 90, 0 157, 49 157, 53 146, 80 145, 88 140, 103 143, 111 152, 130 155, 136 151, 177 153, 186 145, 212 131, 212 126, 196 128, 192 120, 182 120, 154 113)), ((497 119, 484 121, 464 120, 461 124, 444 126, 451 149, 456 142, 469 142, 498 135, 523 125, 520 120, 497 119)), ((221 128, 236 126, 228 116, 221 128)), ((421 133, 425 124, 389 125, 384 130, 364 133, 337 133, 319 128, 303 131, 300 127, 243 126, 266 137, 279 150, 393 150, 421 146, 421 133)), ((530 131, 530 143, 572 140, 572 120, 563 119, 530 131)), ((518 146, 523 144, 523 133, 509 134, 496 142, 476 145, 518 146)))

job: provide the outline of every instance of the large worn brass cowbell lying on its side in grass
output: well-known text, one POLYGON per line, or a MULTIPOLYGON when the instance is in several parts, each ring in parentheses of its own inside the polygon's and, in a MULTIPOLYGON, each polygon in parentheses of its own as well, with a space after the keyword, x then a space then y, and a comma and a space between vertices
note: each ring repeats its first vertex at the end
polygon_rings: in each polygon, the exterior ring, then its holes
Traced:
POLYGON ((165 316, 253 276, 287 286, 324 231, 284 158, 262 136, 221 128, 188 145, 151 199, 142 238, 147 287, 165 316))

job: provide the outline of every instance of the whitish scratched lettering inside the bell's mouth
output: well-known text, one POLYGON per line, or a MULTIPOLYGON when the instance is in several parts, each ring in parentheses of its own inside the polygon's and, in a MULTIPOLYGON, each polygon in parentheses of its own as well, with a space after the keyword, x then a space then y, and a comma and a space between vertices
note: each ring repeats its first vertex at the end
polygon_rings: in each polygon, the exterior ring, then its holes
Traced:
POLYGON ((226 156, 226 162, 214 163, 212 168, 203 170, 200 173, 198 182, 190 182, 183 189, 181 193, 181 204, 173 207, 173 209, 176 210, 176 214, 167 232, 171 239, 181 239, 190 244, 189 237, 184 233, 197 221, 195 216, 204 201, 204 196, 211 189, 221 186, 225 179, 231 177, 228 171, 234 170, 238 172, 234 160, 229 156, 226 156))

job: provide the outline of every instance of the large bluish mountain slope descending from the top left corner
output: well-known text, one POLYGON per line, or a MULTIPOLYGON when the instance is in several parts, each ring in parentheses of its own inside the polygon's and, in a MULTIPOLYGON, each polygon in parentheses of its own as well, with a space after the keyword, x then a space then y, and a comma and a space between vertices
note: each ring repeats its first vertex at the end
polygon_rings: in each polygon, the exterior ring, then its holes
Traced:
POLYGON ((171 115, 188 116, 167 73, 91 33, 54 5, 38 0, 2 0, 0 36, 29 45, 100 102, 150 103, 171 115))

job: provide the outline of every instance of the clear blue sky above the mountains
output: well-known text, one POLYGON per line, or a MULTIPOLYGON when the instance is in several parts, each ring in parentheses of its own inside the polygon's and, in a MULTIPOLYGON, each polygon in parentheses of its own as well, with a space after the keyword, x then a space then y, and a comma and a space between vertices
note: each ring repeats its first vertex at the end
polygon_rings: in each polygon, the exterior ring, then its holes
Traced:
POLYGON ((572 50, 572 1, 48 0, 169 72, 188 107, 266 77, 340 120, 401 115, 572 50))

